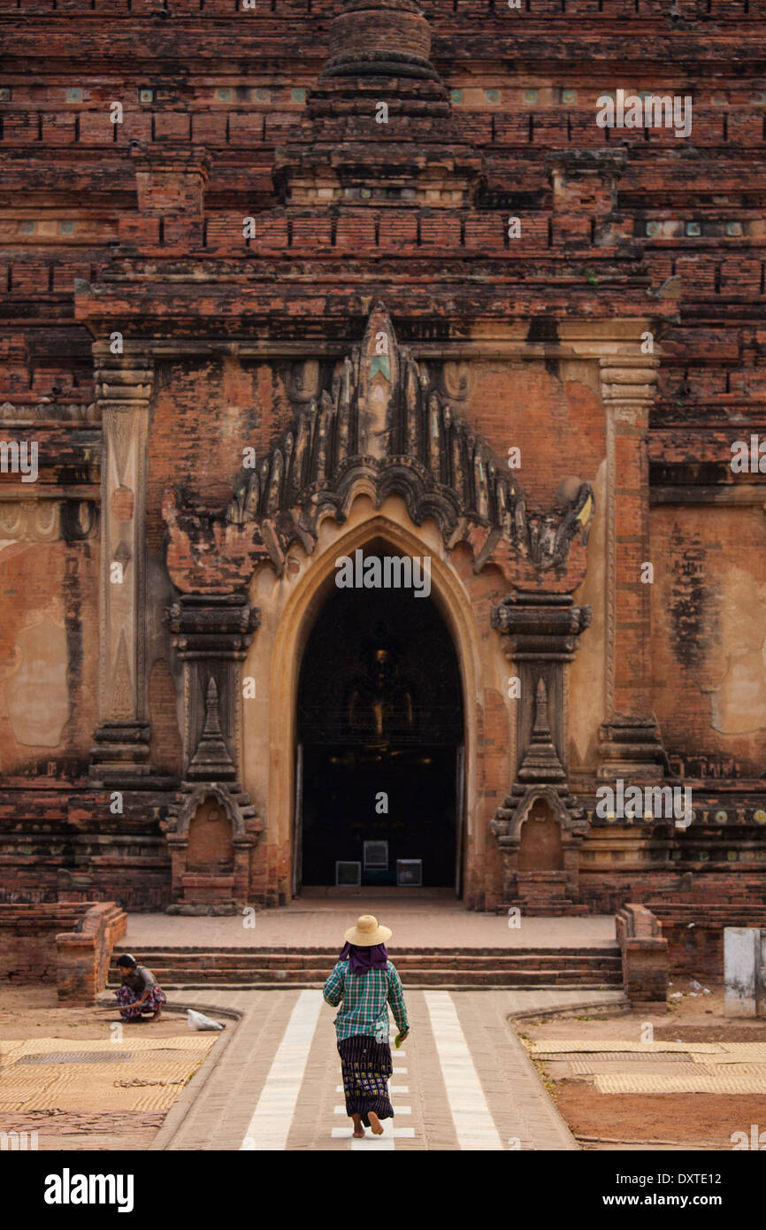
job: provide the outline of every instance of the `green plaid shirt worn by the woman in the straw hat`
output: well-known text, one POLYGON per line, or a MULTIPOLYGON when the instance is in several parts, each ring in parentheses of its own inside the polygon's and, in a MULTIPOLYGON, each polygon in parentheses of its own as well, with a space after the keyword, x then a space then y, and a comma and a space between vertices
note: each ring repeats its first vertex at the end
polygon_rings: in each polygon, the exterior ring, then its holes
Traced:
POLYGON ((389 1004, 400 1033, 409 1028, 402 983, 391 962, 385 969, 349 974, 348 961, 339 961, 325 983, 325 999, 333 1007, 343 1000, 343 1007, 334 1020, 338 1042, 359 1033, 387 1042, 389 1004))

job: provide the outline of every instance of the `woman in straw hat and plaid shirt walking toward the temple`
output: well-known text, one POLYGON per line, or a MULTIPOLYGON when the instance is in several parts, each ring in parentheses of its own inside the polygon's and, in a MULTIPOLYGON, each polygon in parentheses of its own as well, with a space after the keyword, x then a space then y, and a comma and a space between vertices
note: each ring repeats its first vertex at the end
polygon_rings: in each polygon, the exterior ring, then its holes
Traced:
POLYGON ((374 1135, 381 1135, 380 1121, 393 1118, 389 1098, 389 1004, 401 1039, 409 1033, 402 984, 386 952, 385 941, 391 935, 371 914, 363 914, 345 932, 343 951, 325 983, 326 1001, 333 1007, 342 1002, 334 1021, 336 1037, 345 1112, 358 1138, 370 1127, 374 1135))

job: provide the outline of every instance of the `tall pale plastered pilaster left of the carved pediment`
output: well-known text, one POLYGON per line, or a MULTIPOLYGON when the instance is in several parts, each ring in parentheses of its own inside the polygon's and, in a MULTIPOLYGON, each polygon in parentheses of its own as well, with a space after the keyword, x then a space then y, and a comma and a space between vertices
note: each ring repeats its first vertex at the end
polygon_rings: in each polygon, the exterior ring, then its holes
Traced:
POLYGON ((146 434, 151 360, 93 344, 103 430, 101 474, 100 724, 91 779, 132 785, 150 772, 145 663, 146 434))

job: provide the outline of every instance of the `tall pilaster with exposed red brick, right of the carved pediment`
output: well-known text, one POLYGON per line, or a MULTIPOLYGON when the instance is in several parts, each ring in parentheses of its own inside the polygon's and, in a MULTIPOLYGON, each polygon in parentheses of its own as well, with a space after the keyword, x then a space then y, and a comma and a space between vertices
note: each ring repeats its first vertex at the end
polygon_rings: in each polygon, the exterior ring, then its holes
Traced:
POLYGON ((666 765, 652 713, 647 438, 658 360, 647 354, 601 359, 606 410, 606 713, 599 777, 660 781, 666 765))

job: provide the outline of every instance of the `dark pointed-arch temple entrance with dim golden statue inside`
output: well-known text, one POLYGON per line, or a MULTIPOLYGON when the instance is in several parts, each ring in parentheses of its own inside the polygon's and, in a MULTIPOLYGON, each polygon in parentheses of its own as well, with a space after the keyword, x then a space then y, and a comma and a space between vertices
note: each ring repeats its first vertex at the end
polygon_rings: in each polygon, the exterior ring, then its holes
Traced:
POLYGON ((432 599, 334 589, 306 646, 298 705, 296 889, 338 873, 369 886, 422 875, 423 887, 460 893, 461 685, 432 599))

